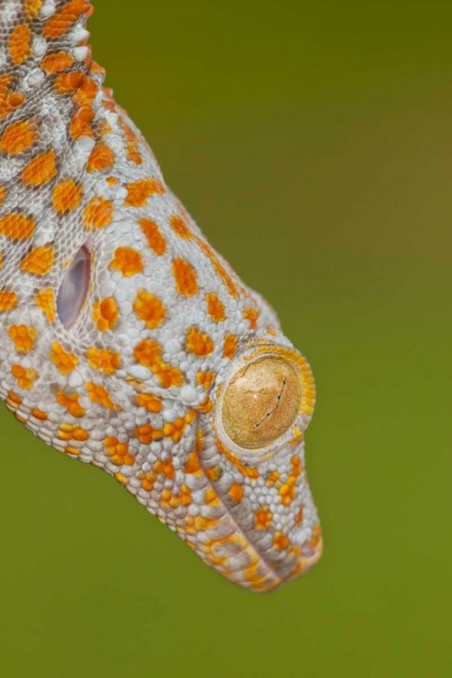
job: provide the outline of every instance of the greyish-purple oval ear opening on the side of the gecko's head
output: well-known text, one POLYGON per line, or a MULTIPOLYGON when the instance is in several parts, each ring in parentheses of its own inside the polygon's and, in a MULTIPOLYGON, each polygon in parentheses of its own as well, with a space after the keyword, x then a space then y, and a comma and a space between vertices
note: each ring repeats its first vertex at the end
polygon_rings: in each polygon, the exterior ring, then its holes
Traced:
POLYGON ((80 247, 62 278, 57 296, 57 314, 66 329, 77 320, 89 289, 91 257, 86 245, 80 247))

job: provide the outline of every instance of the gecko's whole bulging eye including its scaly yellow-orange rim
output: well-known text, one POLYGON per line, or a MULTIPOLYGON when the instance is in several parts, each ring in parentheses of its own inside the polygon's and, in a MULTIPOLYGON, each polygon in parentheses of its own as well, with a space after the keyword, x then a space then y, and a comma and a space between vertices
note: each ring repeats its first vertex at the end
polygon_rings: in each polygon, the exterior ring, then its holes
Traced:
POLYGON ((303 356, 283 346, 260 346, 240 362, 224 385, 216 424, 231 452, 252 464, 305 430, 315 386, 303 356))

